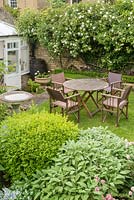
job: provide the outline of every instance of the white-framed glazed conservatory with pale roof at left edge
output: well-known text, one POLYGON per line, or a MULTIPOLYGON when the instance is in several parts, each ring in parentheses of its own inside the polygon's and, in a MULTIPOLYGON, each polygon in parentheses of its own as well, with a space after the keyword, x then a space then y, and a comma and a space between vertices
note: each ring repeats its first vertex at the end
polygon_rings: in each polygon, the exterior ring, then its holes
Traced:
POLYGON ((0 62, 4 63, 4 83, 21 89, 21 77, 29 73, 29 47, 14 26, 0 21, 0 62))

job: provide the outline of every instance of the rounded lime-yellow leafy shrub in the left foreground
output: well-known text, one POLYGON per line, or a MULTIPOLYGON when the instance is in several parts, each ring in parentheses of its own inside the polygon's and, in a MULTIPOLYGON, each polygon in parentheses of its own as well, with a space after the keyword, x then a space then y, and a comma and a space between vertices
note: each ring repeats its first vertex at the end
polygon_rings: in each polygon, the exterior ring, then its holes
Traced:
POLYGON ((78 127, 61 115, 20 113, 0 127, 0 160, 12 180, 42 169, 68 139, 76 139, 78 127))

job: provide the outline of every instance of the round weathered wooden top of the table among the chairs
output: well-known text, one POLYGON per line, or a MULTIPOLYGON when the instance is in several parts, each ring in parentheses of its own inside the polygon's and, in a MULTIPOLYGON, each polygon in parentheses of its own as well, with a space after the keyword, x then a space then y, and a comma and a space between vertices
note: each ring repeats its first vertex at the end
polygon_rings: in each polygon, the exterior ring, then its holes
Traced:
POLYGON ((77 91, 97 91, 108 87, 108 83, 102 79, 85 78, 85 79, 71 79, 65 81, 63 86, 77 91))

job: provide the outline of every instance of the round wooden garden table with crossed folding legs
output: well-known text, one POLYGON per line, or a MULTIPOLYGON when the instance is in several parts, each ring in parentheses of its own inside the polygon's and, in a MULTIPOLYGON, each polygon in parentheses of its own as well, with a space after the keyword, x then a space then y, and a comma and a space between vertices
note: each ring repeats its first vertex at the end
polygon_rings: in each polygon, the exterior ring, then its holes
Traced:
POLYGON ((63 86, 72 89, 76 92, 83 91, 83 94, 80 95, 81 106, 85 108, 89 117, 92 117, 96 112, 100 111, 99 104, 94 98, 93 93, 99 90, 103 90, 108 87, 108 83, 102 79, 71 79, 65 81, 63 86), (96 110, 91 112, 87 106, 88 99, 91 98, 93 103, 96 106, 96 110))

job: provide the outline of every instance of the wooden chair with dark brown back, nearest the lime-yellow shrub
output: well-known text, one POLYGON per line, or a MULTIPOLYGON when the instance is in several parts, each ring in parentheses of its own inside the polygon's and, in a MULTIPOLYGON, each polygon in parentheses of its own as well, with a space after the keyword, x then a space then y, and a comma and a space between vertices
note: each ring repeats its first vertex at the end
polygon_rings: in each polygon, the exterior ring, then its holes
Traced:
POLYGON ((63 93, 59 90, 47 87, 46 88, 50 97, 50 113, 54 108, 60 107, 62 115, 69 115, 71 113, 77 113, 77 121, 80 121, 80 96, 74 94, 72 96, 64 97, 63 93))

